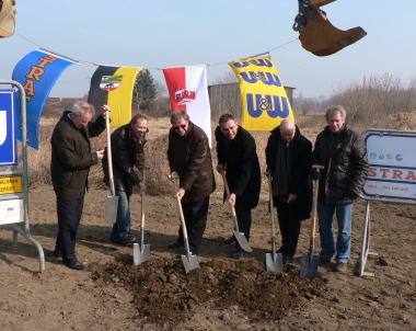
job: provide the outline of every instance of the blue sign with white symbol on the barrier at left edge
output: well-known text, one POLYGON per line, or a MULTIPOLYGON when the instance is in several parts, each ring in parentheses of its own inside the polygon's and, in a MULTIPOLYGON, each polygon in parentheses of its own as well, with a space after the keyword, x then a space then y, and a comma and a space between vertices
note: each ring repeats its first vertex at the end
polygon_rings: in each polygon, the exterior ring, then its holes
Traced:
POLYGON ((18 164, 15 105, 14 90, 0 90, 0 167, 18 164))

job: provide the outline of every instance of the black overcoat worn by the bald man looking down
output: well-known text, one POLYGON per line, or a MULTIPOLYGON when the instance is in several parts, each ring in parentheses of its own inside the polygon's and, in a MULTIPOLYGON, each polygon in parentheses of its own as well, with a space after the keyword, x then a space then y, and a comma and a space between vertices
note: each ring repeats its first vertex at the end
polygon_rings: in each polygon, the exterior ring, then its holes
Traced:
MULTIPOLYGON (((274 174, 277 162, 277 146, 281 140, 280 126, 271 130, 266 146, 266 163, 267 170, 274 174)), ((296 194, 298 198, 290 204, 290 214, 297 220, 304 220, 311 217, 312 208, 312 181, 311 171, 311 155, 312 142, 301 135, 299 127, 296 127, 296 134, 291 140, 291 146, 288 149, 290 158, 290 185, 289 192, 296 194)), ((275 181, 271 179, 274 196, 276 198, 275 181)))

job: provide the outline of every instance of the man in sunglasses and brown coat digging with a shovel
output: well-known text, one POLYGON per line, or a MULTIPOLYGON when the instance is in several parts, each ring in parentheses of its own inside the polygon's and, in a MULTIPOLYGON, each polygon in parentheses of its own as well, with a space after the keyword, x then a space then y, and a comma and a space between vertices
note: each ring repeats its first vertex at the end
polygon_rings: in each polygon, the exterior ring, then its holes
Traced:
MULTIPOLYGON (((199 253, 199 247, 207 225, 209 195, 216 190, 211 151, 205 132, 189 121, 185 111, 176 111, 171 116, 169 132, 167 161, 171 179, 180 179, 180 190, 189 250, 199 253)), ((170 248, 184 246, 182 228, 178 239, 170 248)))

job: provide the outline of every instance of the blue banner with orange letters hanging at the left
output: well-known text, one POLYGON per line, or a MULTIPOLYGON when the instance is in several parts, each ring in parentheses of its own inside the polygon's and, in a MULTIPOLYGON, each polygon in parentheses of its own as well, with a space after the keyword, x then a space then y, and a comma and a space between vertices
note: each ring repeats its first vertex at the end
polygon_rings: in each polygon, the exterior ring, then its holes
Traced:
MULTIPOLYGON (((34 50, 14 67, 12 79, 20 82, 26 92, 27 146, 38 150, 39 121, 44 104, 59 76, 73 61, 34 50)), ((18 102, 21 110, 21 96, 18 102)), ((22 141, 22 113, 18 112, 16 138, 22 141)))

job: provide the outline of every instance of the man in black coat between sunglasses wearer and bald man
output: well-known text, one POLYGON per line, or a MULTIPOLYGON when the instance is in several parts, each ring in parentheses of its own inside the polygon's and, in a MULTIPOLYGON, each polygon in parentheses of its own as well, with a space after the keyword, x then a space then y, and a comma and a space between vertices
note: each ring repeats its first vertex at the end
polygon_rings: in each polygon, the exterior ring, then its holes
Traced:
MULTIPOLYGON (((218 166, 217 171, 226 170, 226 179, 230 187, 230 196, 224 191, 224 201, 235 207, 239 230, 250 239, 252 226, 252 209, 258 204, 262 175, 256 141, 253 136, 239 126, 231 114, 224 114, 219 119, 216 128, 218 166)), ((232 243, 235 237, 231 236, 223 240, 232 243)), ((235 242, 234 259, 244 255, 239 242, 235 242)))

